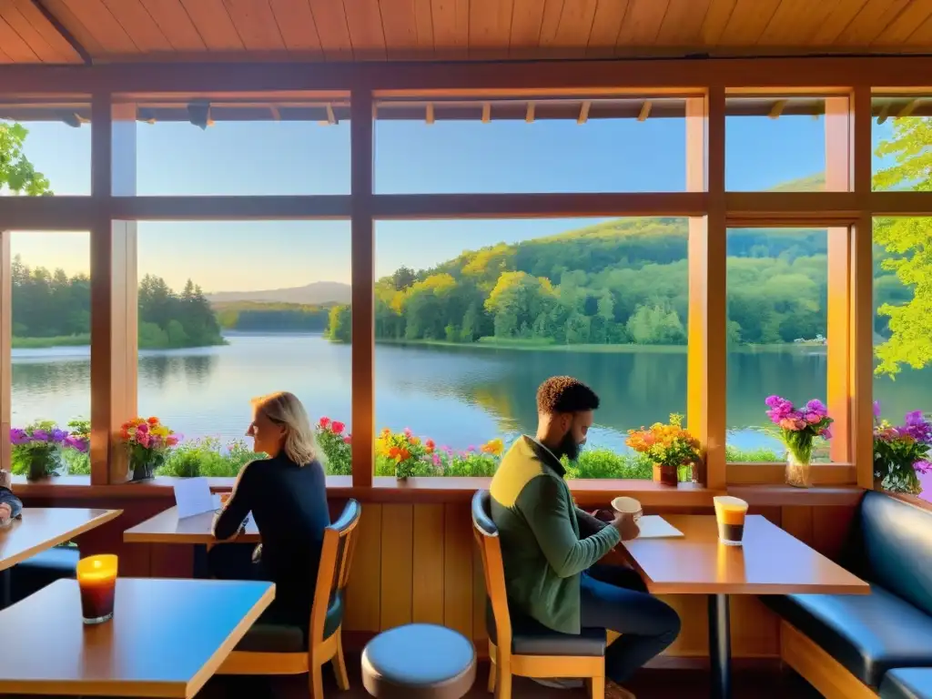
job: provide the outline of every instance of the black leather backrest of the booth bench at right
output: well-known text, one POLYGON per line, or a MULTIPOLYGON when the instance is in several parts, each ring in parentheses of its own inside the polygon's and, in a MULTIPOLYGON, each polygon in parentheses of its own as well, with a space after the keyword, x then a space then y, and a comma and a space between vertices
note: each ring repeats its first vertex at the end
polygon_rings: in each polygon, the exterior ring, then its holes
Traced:
POLYGON ((932 512, 869 490, 859 520, 862 574, 932 614, 932 512))

